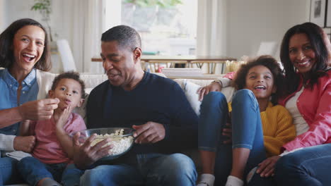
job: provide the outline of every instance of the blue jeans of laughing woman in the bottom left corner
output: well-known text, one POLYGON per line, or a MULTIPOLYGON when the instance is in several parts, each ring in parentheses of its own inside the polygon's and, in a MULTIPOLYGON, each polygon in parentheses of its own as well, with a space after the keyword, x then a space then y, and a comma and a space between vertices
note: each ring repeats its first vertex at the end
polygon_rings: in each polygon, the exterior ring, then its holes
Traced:
POLYGON ((0 185, 11 185, 23 182, 16 164, 18 161, 9 157, 0 158, 0 185))

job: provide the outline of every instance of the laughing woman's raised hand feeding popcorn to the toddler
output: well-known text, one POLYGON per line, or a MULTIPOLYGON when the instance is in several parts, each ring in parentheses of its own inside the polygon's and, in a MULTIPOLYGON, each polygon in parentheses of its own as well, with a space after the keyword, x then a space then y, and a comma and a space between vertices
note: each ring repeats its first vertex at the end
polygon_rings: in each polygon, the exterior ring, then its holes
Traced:
POLYGON ((18 106, 18 111, 22 120, 47 120, 53 115, 54 109, 57 109, 59 99, 40 99, 28 101, 18 106))

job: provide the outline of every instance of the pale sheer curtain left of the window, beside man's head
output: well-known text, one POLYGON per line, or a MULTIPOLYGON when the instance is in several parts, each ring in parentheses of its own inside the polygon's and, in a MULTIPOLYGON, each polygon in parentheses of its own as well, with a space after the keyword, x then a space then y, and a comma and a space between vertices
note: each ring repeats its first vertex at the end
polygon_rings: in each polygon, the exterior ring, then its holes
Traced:
POLYGON ((100 39, 104 31, 105 0, 71 0, 65 2, 64 13, 72 53, 79 72, 103 73, 102 64, 91 63, 100 56, 100 39))

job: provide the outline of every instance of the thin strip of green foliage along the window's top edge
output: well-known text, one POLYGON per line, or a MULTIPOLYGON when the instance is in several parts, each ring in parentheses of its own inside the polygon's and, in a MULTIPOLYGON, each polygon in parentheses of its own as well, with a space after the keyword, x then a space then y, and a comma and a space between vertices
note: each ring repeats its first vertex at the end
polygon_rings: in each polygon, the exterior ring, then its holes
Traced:
POLYGON ((172 6, 176 6, 178 4, 182 4, 180 0, 124 0, 124 3, 136 4, 141 7, 148 6, 160 6, 162 8, 168 8, 172 6))

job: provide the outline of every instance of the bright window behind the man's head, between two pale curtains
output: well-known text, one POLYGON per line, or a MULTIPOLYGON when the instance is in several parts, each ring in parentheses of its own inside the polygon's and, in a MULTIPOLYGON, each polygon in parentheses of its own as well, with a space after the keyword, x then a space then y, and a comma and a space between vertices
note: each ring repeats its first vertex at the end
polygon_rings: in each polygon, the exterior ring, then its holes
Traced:
POLYGON ((121 6, 121 24, 139 32, 143 54, 195 54, 197 0, 122 0, 121 6))

